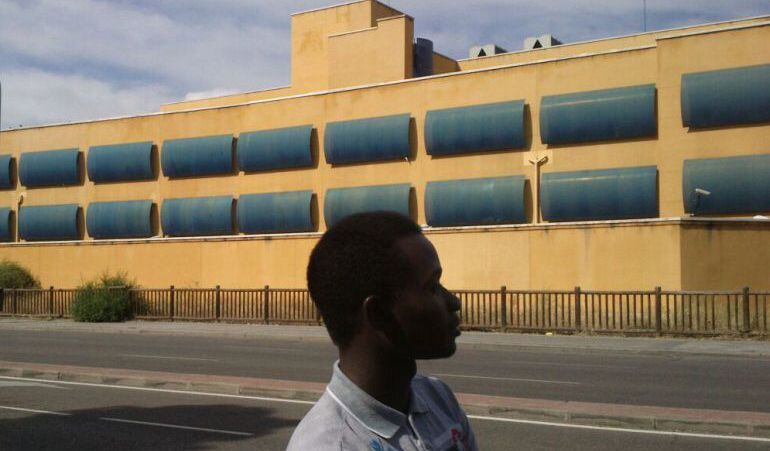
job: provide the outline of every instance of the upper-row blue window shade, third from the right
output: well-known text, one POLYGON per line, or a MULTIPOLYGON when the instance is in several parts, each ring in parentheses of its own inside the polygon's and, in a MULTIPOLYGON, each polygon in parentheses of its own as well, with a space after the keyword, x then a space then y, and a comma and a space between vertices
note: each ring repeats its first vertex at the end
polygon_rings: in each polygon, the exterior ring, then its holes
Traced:
POLYGON ((428 155, 521 149, 525 146, 524 101, 428 111, 428 155))

